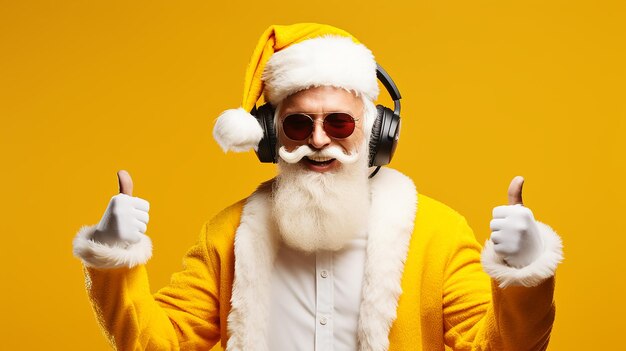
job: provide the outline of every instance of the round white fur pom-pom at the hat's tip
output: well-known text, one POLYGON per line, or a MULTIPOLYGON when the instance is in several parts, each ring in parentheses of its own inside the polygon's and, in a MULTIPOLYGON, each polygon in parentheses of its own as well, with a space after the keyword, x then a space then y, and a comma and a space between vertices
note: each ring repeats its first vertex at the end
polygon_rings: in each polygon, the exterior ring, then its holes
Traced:
POLYGON ((256 150, 263 139, 263 129, 254 116, 240 107, 222 112, 215 121, 213 138, 224 152, 256 150))

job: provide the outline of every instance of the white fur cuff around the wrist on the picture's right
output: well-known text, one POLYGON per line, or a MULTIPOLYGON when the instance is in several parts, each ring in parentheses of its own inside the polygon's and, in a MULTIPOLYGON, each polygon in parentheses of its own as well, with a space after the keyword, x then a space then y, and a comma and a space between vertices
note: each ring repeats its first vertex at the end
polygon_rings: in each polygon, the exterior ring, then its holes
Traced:
POLYGON ((559 235, 548 225, 537 222, 539 232, 544 240, 544 252, 533 263, 526 267, 514 268, 508 266, 496 254, 491 240, 485 242, 481 261, 483 269, 491 278, 498 281, 501 288, 507 286, 537 286, 542 281, 552 277, 556 267, 563 260, 563 244, 559 235))

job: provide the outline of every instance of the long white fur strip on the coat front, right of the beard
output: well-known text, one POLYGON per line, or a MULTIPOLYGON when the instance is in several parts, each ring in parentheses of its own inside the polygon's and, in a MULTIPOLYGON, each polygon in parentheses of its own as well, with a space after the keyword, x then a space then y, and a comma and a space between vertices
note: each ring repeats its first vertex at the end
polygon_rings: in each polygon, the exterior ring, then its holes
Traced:
POLYGON ((359 350, 387 350, 402 293, 402 273, 417 212, 417 190, 402 173, 382 168, 372 178, 372 207, 359 313, 359 350))

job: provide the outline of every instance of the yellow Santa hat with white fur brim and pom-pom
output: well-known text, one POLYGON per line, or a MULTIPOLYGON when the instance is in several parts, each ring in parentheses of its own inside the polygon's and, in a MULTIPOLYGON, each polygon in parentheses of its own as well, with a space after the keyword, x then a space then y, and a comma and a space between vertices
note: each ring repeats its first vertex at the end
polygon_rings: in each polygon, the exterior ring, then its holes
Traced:
POLYGON ((345 88, 376 100, 379 89, 372 52, 333 26, 270 26, 252 53, 241 107, 218 117, 213 137, 225 152, 256 150, 263 130, 250 111, 261 95, 277 106, 287 96, 314 86, 345 88))

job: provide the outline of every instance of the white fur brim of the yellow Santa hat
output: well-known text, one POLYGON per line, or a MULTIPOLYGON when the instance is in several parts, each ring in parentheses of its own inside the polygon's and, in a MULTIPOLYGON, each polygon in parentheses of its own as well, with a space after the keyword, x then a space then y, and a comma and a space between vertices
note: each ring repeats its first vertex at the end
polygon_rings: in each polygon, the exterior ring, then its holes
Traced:
POLYGON ((273 106, 312 86, 335 86, 378 97, 376 61, 372 52, 348 37, 308 39, 276 52, 262 76, 265 99, 273 106))

